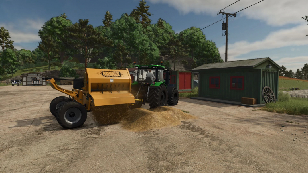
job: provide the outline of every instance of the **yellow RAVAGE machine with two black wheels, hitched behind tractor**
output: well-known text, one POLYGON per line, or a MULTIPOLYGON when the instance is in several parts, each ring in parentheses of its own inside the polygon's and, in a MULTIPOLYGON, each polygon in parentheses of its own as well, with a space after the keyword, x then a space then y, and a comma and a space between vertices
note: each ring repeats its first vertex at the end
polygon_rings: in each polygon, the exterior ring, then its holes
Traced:
POLYGON ((132 78, 128 69, 87 68, 81 90, 65 90, 56 84, 54 78, 46 81, 55 90, 69 95, 69 98, 57 97, 50 103, 51 113, 64 128, 83 125, 87 119, 87 111, 92 107, 136 103, 134 95, 131 94, 132 78))

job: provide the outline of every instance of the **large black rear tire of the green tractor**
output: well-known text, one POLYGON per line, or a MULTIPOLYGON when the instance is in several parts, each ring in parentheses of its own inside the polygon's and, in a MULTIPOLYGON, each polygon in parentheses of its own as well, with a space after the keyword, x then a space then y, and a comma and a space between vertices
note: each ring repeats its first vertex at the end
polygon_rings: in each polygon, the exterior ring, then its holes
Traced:
POLYGON ((160 85, 158 88, 150 88, 148 98, 148 103, 151 109, 160 106, 166 106, 168 100, 166 86, 160 85))

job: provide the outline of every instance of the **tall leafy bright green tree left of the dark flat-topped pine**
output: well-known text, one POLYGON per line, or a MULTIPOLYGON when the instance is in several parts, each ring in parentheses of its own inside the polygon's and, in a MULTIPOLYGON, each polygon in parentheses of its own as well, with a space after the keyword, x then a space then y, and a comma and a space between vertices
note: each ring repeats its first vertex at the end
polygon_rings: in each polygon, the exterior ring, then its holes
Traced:
POLYGON ((55 49, 58 50, 60 56, 60 63, 63 63, 64 55, 70 53, 68 45, 65 40, 68 36, 67 27, 71 26, 71 20, 67 19, 65 13, 49 19, 39 30, 39 37, 44 39, 51 36, 55 42, 55 49))

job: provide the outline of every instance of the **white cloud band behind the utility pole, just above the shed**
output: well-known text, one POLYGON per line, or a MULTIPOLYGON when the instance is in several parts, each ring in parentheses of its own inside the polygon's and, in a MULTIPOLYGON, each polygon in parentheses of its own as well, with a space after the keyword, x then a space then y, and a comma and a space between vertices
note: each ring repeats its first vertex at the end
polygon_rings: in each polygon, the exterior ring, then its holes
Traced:
MULTIPOLYGON (((256 50, 269 50, 285 46, 308 45, 307 25, 298 25, 290 29, 282 29, 270 33, 264 40, 256 42, 239 41, 228 44, 228 60, 232 61, 242 54, 256 50)), ((298 48, 292 51, 299 50, 298 48)), ((225 59, 225 46, 219 48, 221 58, 225 59)))

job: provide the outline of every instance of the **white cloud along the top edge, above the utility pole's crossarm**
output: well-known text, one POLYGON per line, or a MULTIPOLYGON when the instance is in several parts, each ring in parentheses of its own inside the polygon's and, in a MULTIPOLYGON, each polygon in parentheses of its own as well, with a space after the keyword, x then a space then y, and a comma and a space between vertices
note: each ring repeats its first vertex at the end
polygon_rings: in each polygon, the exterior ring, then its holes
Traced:
MULTIPOLYGON (((152 3, 167 3, 182 14, 195 12, 216 16, 222 8, 232 4, 235 0, 148 0, 152 3)), ((246 8, 259 0, 242 0, 225 9, 233 13, 246 8)), ((285 24, 299 24, 305 22, 301 17, 307 15, 307 0, 265 0, 238 13, 250 19, 265 21, 268 25, 283 26, 285 24)), ((220 14, 221 15, 221 14, 220 14)))

